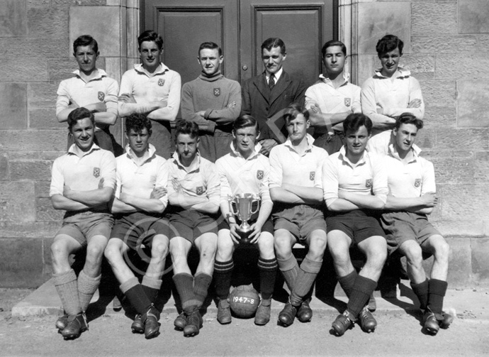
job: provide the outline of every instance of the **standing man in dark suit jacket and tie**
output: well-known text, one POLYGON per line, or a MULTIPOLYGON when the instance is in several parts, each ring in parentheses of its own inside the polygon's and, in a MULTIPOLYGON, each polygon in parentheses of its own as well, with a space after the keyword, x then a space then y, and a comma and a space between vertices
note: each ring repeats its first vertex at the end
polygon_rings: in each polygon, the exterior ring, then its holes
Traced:
POLYGON ((262 43, 265 71, 248 79, 242 86, 241 114, 249 114, 259 124, 260 153, 268 156, 271 148, 285 142, 287 133, 281 111, 292 103, 304 102, 305 83, 288 75, 282 68, 286 47, 280 38, 268 38, 262 43))

